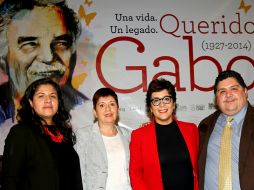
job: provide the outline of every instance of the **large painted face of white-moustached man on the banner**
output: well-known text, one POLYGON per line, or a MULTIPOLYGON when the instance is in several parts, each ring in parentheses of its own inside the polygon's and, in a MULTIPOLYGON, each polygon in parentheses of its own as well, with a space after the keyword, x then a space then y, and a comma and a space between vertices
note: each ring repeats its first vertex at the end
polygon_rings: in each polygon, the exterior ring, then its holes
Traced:
POLYGON ((17 98, 39 78, 50 77, 60 85, 66 83, 73 49, 59 8, 22 10, 10 23, 7 38, 7 59, 17 98))

